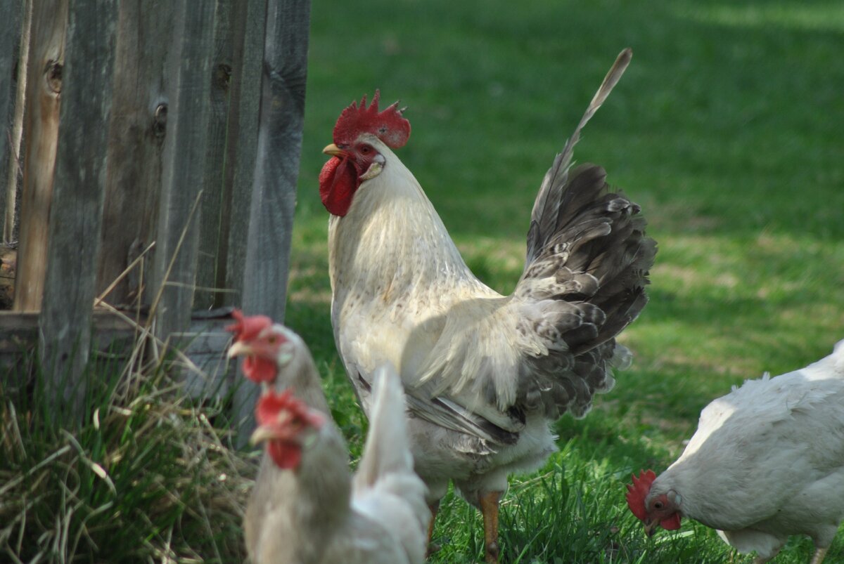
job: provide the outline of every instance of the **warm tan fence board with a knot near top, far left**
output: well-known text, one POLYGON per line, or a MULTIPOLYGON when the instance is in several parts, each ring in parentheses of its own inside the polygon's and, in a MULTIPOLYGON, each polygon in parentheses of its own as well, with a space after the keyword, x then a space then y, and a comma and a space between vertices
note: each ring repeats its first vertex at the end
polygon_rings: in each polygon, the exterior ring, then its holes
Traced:
POLYGON ((34 2, 26 79, 24 190, 14 309, 41 309, 68 0, 34 2))

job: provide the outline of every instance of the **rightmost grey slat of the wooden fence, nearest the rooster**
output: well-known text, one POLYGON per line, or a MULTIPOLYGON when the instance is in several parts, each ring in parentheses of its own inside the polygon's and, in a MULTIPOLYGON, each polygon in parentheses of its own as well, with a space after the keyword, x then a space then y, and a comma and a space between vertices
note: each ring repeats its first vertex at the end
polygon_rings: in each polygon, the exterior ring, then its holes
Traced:
MULTIPOLYGON (((243 309, 274 320, 284 320, 287 297, 310 17, 310 0, 268 0, 257 161, 242 272, 243 309)), ((254 386, 235 390, 238 446, 246 444, 254 425, 255 395, 254 386)))

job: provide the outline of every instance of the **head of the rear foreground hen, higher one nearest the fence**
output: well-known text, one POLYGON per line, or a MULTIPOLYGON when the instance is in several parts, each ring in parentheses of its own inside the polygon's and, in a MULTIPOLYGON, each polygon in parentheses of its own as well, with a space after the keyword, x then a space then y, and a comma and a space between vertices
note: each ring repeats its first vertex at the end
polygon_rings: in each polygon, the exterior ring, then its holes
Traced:
POLYGON ((294 337, 283 325, 273 325, 266 315, 232 312, 235 323, 225 329, 235 334, 228 356, 244 357, 243 373, 256 384, 273 384, 279 368, 293 355, 294 337))

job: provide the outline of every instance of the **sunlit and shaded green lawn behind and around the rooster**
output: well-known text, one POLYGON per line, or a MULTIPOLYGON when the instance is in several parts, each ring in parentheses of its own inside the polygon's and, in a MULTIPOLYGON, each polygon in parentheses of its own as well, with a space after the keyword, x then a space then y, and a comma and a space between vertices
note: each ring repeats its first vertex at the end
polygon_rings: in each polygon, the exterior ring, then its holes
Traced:
MULTIPOLYGON (((651 303, 622 341, 630 370, 560 454, 503 503, 507 561, 722 562, 690 521, 646 540, 627 511, 632 470, 663 470, 701 408, 763 371, 844 338, 844 7, 834 2, 314 3, 288 323, 326 376, 360 449, 365 421, 334 352, 327 212, 317 175, 352 99, 402 99, 398 151, 473 271, 501 292, 521 273, 539 180, 614 56, 633 62, 575 155, 645 210, 659 253, 651 303)), ((433 561, 475 561, 477 512, 449 494, 433 561)), ((795 538, 777 562, 808 561, 795 538)), ((838 540, 830 561, 844 558, 838 540)), ((737 558, 736 561, 749 561, 737 558)))

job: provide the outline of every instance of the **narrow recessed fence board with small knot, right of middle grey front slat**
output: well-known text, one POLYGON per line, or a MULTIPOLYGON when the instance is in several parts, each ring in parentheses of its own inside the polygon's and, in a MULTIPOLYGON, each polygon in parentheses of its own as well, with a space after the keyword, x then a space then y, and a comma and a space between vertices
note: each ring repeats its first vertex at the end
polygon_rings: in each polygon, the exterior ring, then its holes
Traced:
POLYGON ((231 73, 235 67, 235 18, 245 3, 217 0, 214 12, 214 59, 211 63, 211 115, 208 124, 208 156, 203 183, 202 213, 199 223, 199 255, 197 256, 197 290, 193 293, 194 309, 210 309, 222 302, 216 288, 216 271, 220 237, 220 218, 228 213, 223 201, 228 180, 226 143, 230 115, 231 73))

